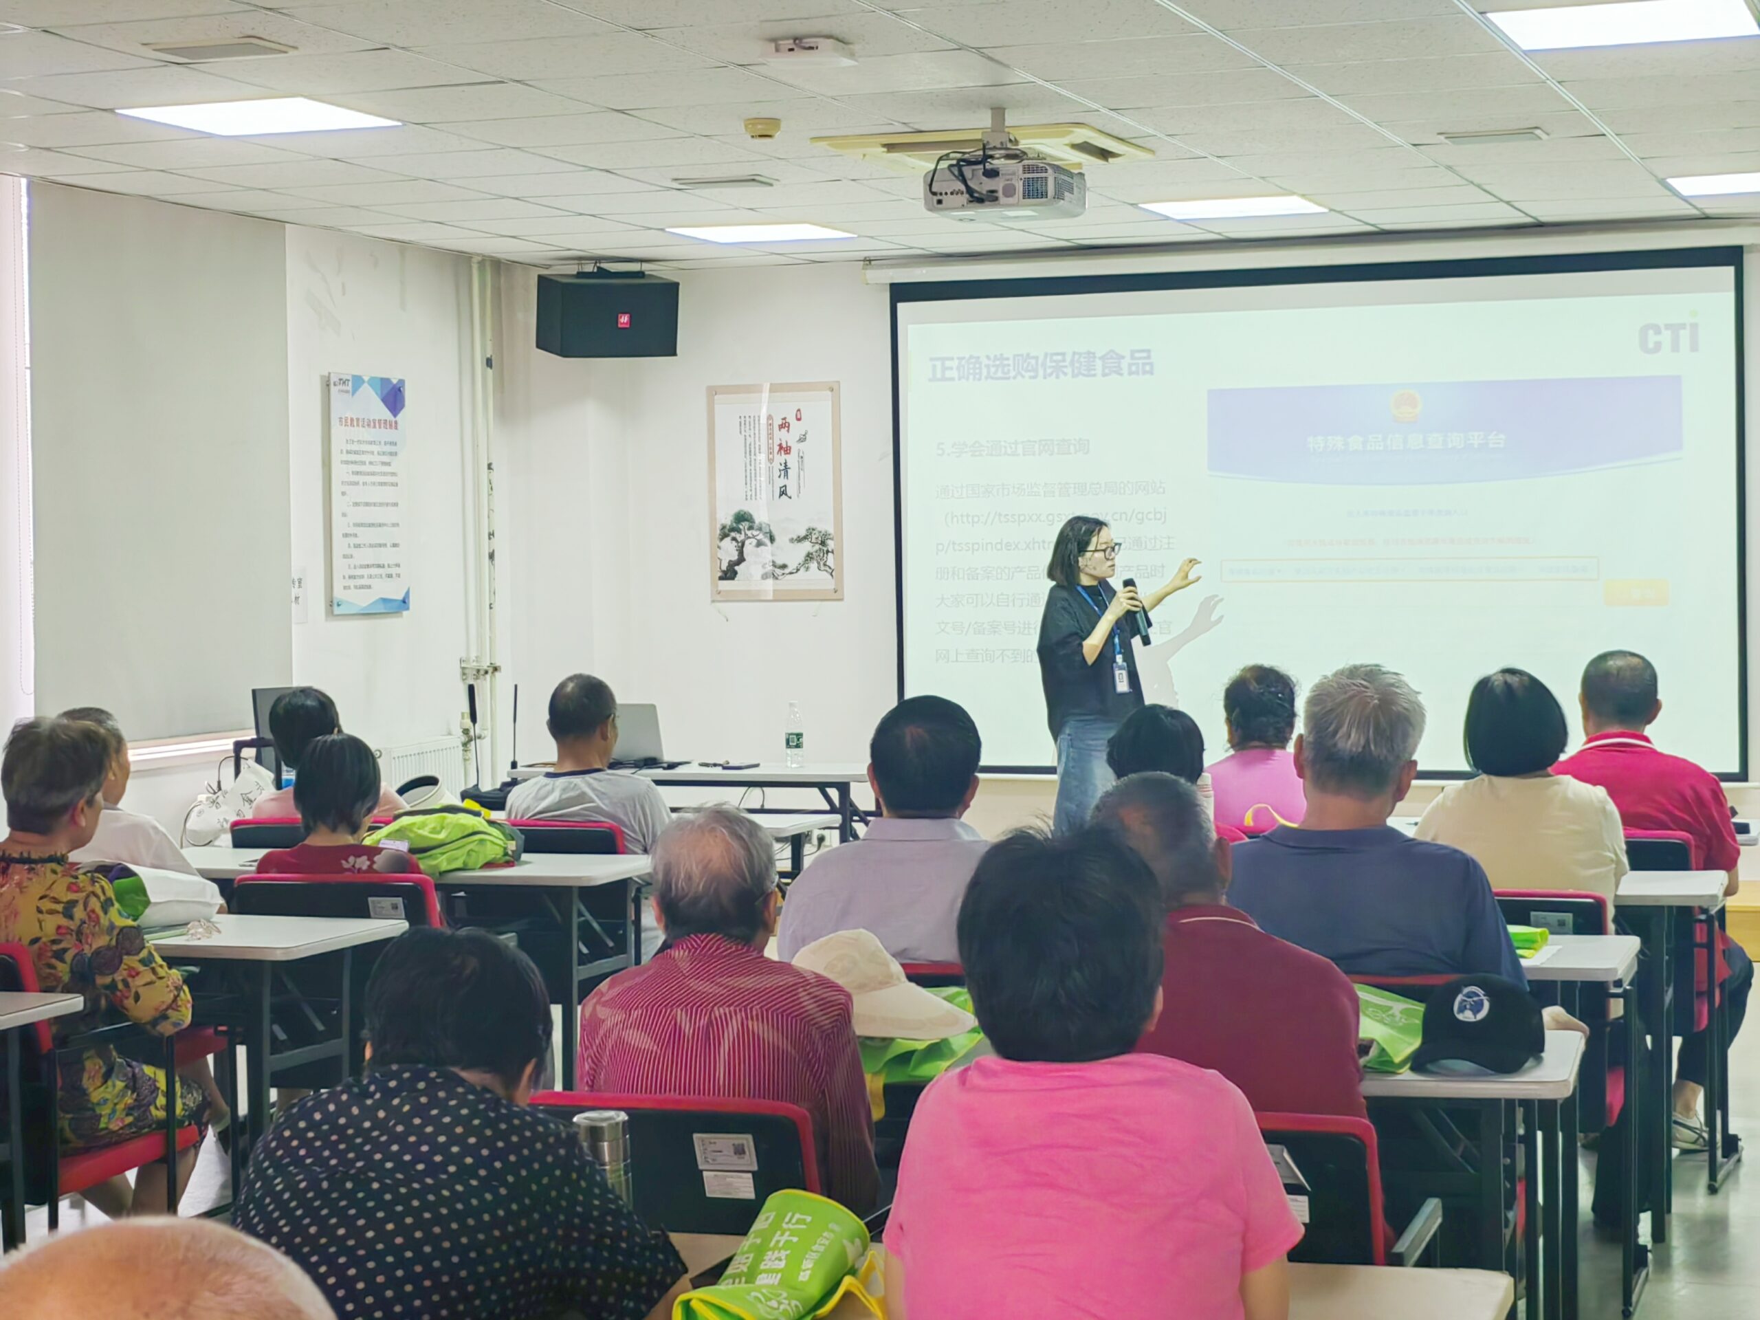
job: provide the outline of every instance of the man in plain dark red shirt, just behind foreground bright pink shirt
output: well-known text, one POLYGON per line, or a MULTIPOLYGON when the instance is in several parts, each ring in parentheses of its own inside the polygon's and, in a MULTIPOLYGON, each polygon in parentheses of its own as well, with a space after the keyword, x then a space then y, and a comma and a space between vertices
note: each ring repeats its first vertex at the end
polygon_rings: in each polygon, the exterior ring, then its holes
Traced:
POLYGON ((1149 864, 1169 908, 1162 1021, 1137 1049, 1214 1068, 1262 1112, 1368 1118, 1357 987, 1227 906, 1230 848, 1192 785, 1132 774, 1100 799, 1095 824, 1149 864))

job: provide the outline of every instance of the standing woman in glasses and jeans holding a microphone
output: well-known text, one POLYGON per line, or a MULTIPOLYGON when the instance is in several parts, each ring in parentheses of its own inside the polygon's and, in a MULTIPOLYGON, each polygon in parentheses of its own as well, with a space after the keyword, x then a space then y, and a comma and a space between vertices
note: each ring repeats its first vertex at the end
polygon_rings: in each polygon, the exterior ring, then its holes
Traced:
POLYGON ((1045 614, 1038 621, 1038 674, 1045 685, 1045 713, 1058 741, 1060 834, 1088 820, 1095 801, 1112 785, 1105 764, 1107 739, 1142 706, 1142 681, 1130 639, 1139 611, 1155 609, 1174 591, 1199 581, 1197 560, 1186 560, 1165 586, 1139 595, 1114 591, 1119 542, 1098 517, 1072 517, 1051 546, 1045 576, 1045 614))

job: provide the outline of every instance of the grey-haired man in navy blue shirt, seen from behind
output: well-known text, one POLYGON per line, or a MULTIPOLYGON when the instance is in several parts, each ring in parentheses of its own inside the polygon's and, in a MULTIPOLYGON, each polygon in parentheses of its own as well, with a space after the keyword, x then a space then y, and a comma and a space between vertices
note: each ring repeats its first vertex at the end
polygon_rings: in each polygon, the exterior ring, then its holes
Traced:
POLYGON ((1308 815, 1234 850, 1230 903, 1352 975, 1494 973, 1526 986, 1484 868, 1387 824, 1412 788, 1424 702, 1380 665, 1308 690, 1295 773, 1308 815))

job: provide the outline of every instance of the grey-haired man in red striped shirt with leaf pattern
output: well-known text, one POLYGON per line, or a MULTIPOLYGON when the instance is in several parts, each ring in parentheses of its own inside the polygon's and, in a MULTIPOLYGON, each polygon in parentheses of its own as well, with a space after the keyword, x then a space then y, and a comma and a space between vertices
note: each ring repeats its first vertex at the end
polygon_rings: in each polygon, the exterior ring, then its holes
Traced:
POLYGON ((801 1105, 825 1195, 866 1214, 878 1170, 850 993, 764 956, 771 836, 727 806, 679 817, 653 847, 653 885, 665 945, 581 1005, 581 1089, 801 1105))

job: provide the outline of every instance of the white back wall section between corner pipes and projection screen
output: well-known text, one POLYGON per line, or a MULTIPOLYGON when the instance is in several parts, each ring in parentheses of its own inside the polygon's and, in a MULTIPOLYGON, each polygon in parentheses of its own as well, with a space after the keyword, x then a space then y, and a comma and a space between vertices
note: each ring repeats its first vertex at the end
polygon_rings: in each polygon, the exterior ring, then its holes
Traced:
POLYGON ((539 354, 530 280, 505 287, 521 752, 546 746, 556 679, 590 669, 621 700, 660 704, 671 755, 780 760, 799 700, 810 760, 866 759, 898 674, 887 292, 854 262, 678 278, 678 357, 630 363, 539 354), (845 600, 709 600, 704 391, 766 380, 841 382, 845 600))

